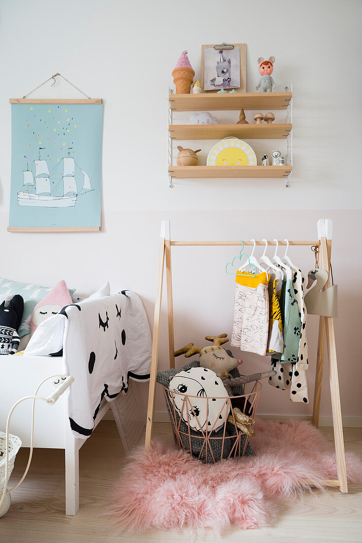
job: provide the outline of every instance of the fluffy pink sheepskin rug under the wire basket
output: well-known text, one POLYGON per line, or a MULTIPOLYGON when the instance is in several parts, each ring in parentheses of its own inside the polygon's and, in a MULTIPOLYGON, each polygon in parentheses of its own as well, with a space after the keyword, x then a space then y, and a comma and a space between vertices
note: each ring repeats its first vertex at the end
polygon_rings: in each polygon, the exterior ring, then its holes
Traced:
MULTIPOLYGON (((110 506, 115 528, 211 529, 221 533, 269 526, 278 503, 323 489, 322 479, 336 479, 334 446, 305 421, 283 424, 255 421, 251 444, 255 456, 203 464, 170 443, 152 443, 130 457, 110 506)), ((346 454, 349 483, 362 482, 362 463, 346 454)))

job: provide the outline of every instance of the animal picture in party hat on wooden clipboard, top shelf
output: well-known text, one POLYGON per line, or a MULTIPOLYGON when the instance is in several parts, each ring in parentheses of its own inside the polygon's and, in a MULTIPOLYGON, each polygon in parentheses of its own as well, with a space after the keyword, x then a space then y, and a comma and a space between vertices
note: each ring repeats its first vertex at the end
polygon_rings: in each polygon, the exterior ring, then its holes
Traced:
POLYGON ((203 45, 201 85, 204 92, 246 92, 246 43, 203 45))

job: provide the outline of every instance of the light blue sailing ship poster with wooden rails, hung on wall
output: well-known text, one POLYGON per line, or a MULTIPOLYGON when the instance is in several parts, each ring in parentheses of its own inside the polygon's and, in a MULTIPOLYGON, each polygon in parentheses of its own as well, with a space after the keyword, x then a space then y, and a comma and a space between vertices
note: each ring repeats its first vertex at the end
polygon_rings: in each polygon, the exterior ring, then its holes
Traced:
POLYGON ((102 100, 20 102, 11 104, 9 230, 99 231, 102 100))

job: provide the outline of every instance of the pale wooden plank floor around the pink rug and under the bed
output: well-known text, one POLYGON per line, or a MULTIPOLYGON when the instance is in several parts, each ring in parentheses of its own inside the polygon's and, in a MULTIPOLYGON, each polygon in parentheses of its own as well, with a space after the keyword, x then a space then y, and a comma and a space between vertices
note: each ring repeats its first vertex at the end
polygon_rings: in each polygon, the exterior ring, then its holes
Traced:
MULTIPOLYGON (((155 435, 166 435, 170 426, 155 424, 155 435)), ((332 428, 322 428, 332 441, 332 428)), ((345 429, 346 450, 362 456, 362 428, 345 429)), ((21 475, 27 449, 16 458, 11 482, 21 475)), ((120 543, 122 541, 225 541, 283 543, 299 541, 362 541, 362 485, 350 485, 348 494, 331 489, 285 503, 271 528, 230 529, 222 538, 212 534, 194 538, 188 532, 146 532, 129 535, 112 531, 102 517, 107 495, 124 462, 124 452, 113 421, 102 421, 80 450, 80 509, 64 514, 64 452, 37 449, 20 488, 14 491, 8 513, 0 519, 2 543, 120 543)))

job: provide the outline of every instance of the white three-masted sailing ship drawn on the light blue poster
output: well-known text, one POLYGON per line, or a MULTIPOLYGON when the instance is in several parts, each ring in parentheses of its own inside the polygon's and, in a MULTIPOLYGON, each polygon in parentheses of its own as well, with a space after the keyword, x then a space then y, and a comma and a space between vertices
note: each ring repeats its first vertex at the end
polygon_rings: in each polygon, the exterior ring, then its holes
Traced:
POLYGON ((70 156, 72 147, 68 148, 68 156, 65 156, 49 173, 48 163, 41 160, 40 151, 45 147, 39 147, 39 159, 34 160, 34 165, 29 170, 29 165, 23 171, 23 190, 17 193, 17 203, 30 207, 72 207, 76 205, 77 197, 92 190, 89 175, 80 168, 74 158, 70 156), (59 166, 63 166, 63 173, 58 178, 59 166), (76 166, 80 173, 76 176, 76 166), (33 171, 35 175, 33 175, 33 171), (58 181, 55 183, 55 181, 58 181), (63 190, 59 193, 59 186, 63 181, 63 190), (78 191, 83 181, 82 190, 78 191), (35 193, 33 191, 35 187, 35 193), (53 194, 52 194, 53 192, 53 194), (58 194, 55 194, 58 192, 58 194))

